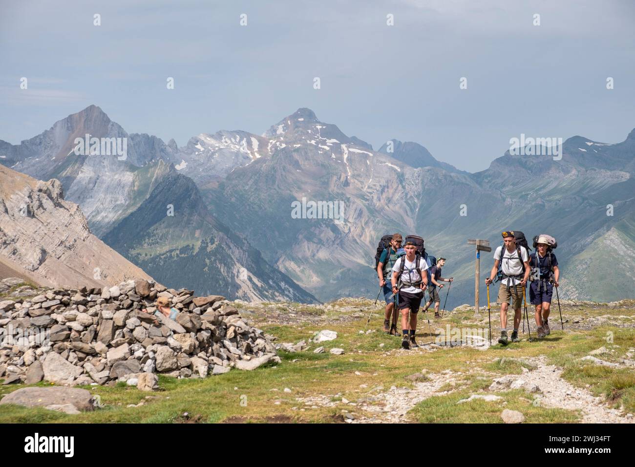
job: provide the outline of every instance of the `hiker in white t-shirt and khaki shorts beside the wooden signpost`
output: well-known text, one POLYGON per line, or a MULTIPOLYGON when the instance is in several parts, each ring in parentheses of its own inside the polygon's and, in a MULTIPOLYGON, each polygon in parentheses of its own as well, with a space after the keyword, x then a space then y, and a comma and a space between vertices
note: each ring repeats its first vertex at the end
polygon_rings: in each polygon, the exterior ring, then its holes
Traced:
POLYGON ((502 278, 497 298, 497 302, 500 303, 500 338, 498 342, 507 345, 507 307, 509 306, 509 299, 513 299, 512 306, 514 308, 512 342, 518 342, 523 290, 525 290, 525 284, 529 278, 530 267, 527 250, 521 245, 516 245, 514 232, 505 231, 502 233, 502 237, 505 245, 496 248, 494 266, 491 268, 490 277, 485 279, 485 283, 487 285, 493 283, 498 271, 498 264, 500 263, 502 278))

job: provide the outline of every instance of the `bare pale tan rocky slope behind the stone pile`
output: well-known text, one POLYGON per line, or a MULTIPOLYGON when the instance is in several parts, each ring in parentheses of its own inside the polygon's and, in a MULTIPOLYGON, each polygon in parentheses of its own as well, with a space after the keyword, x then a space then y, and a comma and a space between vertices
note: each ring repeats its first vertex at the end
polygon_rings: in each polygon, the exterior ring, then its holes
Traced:
POLYGON ((0 258, 35 283, 89 287, 150 276, 93 235, 56 179, 0 165, 0 258))

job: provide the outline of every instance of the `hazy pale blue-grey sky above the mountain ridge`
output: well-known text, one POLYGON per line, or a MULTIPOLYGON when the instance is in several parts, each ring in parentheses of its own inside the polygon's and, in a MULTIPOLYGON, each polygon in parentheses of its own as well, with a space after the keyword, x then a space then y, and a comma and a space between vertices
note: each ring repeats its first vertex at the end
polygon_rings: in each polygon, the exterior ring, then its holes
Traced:
POLYGON ((375 149, 415 141, 476 172, 521 133, 624 140, 634 24, 635 2, 612 0, 0 0, 0 139, 96 104, 184 146, 309 107, 375 149))

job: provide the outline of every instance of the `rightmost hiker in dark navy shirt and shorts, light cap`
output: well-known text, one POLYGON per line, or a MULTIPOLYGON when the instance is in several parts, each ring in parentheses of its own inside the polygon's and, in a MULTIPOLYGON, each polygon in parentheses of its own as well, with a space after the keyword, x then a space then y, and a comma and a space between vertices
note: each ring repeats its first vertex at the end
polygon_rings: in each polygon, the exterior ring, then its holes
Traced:
POLYGON ((532 305, 536 307, 536 325, 538 327, 538 338, 542 339, 551 334, 549 329, 549 307, 553 287, 558 287, 560 270, 558 269, 558 259, 551 251, 552 245, 556 243, 551 236, 541 234, 534 243, 536 251, 530 255, 529 264, 531 267, 531 286, 529 288, 529 298, 532 305))

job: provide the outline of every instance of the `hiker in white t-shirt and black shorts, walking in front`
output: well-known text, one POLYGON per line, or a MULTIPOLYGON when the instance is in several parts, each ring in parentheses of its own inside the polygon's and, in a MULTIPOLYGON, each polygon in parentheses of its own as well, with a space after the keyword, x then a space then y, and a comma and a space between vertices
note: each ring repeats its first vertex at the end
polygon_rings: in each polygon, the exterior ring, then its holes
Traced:
POLYGON ((391 282, 392 292, 399 293, 397 308, 401 313, 401 332, 403 333, 401 346, 409 349, 418 347, 415 341, 417 313, 424 298, 424 290, 428 285, 428 275, 423 274, 428 265, 420 255, 417 255, 415 243, 406 241, 404 250, 406 255, 400 257, 392 266, 391 282), (408 322, 408 313, 410 313, 410 322, 408 322))

